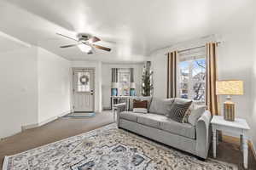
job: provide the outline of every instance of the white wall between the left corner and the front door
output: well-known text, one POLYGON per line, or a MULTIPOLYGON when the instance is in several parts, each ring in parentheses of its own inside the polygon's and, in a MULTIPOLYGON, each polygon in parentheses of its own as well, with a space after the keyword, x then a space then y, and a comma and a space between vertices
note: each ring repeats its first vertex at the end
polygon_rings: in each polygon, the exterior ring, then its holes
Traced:
POLYGON ((38 123, 67 114, 71 91, 70 61, 38 48, 38 123))

